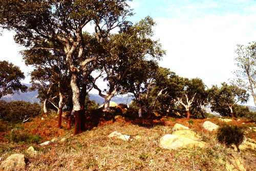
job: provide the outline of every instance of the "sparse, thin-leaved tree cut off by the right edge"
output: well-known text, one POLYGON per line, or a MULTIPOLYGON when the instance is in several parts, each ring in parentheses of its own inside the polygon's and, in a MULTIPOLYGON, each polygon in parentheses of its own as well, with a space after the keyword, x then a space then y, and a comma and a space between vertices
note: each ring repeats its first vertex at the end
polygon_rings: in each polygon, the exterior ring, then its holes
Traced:
POLYGON ((234 59, 239 70, 234 74, 237 79, 232 84, 243 87, 249 91, 256 105, 256 42, 249 43, 248 46, 237 44, 237 57, 234 59))

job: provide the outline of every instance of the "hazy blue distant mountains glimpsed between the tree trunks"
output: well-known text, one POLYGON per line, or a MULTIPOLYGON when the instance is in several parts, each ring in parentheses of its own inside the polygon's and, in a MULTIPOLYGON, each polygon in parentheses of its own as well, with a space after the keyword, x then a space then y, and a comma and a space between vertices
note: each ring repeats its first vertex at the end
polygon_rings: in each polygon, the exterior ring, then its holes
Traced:
MULTIPOLYGON (((30 84, 25 84, 24 85, 31 87, 30 84)), ((6 102, 10 102, 10 101, 26 101, 26 102, 31 102, 31 103, 35 103, 35 102, 40 102, 40 99, 37 99, 37 90, 35 91, 28 91, 25 93, 22 92, 15 92, 13 95, 5 95, 1 98, 1 100, 4 100, 6 102)), ((99 103, 100 105, 102 105, 104 103, 104 99, 103 97, 99 96, 98 94, 89 94, 90 95, 90 100, 95 100, 95 102, 99 103)), ((117 104, 123 103, 123 104, 131 104, 133 97, 129 97, 127 100, 127 96, 123 96, 123 97, 119 97, 119 96, 114 96, 111 101, 116 102, 117 104)))

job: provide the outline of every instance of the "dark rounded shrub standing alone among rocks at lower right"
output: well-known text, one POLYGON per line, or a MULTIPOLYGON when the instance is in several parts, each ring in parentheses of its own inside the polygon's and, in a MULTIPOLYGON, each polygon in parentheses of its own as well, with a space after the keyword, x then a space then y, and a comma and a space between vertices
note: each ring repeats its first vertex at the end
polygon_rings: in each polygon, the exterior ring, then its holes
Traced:
POLYGON ((242 127, 238 126, 223 125, 218 128, 217 138, 221 143, 225 143, 227 145, 235 144, 238 152, 240 152, 239 145, 243 142, 244 130, 242 127))

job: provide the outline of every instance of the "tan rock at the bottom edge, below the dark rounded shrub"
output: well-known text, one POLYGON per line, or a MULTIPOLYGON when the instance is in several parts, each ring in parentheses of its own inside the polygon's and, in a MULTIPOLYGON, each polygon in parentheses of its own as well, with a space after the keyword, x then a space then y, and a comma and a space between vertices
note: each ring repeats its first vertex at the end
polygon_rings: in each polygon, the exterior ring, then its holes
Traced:
POLYGON ((246 171, 243 165, 243 159, 240 156, 231 154, 228 155, 228 160, 219 160, 220 163, 225 164, 228 171, 246 171))

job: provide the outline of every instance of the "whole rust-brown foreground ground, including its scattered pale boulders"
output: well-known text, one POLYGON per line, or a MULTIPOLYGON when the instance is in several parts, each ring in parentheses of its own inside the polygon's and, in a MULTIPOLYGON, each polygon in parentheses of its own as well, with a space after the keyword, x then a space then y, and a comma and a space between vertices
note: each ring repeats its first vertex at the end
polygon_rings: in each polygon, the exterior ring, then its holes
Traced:
POLYGON ((13 166, 21 170, 256 170, 256 124, 248 119, 119 115, 76 136, 65 121, 62 129, 56 128, 56 115, 15 126, 1 123, 0 170, 7 170, 8 158, 20 161, 13 166), (234 145, 218 142, 216 130, 223 124, 244 127, 240 154, 234 145), (10 134, 41 139, 14 142, 10 134))

